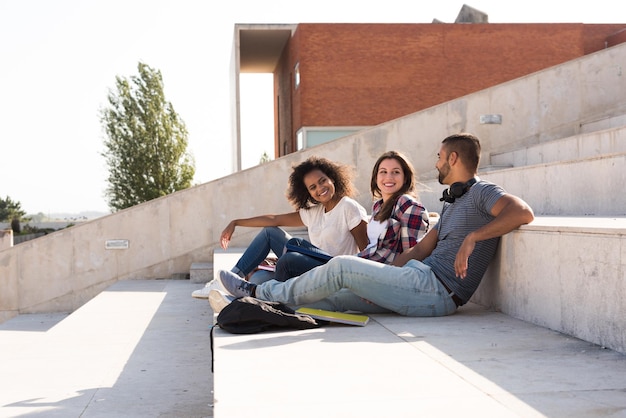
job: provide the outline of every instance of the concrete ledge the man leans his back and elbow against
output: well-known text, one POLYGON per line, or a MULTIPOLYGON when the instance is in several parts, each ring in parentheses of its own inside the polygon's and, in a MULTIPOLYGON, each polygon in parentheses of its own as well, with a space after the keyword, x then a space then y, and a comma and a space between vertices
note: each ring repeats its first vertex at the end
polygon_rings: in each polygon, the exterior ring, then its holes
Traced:
POLYGON ((626 218, 535 218, 502 238, 472 301, 626 353, 626 218))

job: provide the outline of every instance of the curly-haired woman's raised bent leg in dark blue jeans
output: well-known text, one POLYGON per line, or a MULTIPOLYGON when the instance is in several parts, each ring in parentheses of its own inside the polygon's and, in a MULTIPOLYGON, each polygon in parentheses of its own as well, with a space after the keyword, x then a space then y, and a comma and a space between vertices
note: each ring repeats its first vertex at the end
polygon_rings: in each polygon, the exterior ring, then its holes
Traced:
POLYGON ((290 238, 291 235, 276 226, 263 228, 254 237, 231 271, 241 277, 245 277, 265 260, 270 251, 273 251, 277 257, 280 257, 283 254, 285 243, 290 238))

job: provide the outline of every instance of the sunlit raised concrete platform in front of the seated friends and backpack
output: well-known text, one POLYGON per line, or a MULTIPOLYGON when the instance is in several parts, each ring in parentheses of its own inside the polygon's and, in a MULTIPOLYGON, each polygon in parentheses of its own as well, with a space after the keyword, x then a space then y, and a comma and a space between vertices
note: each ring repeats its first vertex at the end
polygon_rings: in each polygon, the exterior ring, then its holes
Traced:
POLYGON ((626 356, 477 305, 215 332, 216 417, 626 417, 626 356))

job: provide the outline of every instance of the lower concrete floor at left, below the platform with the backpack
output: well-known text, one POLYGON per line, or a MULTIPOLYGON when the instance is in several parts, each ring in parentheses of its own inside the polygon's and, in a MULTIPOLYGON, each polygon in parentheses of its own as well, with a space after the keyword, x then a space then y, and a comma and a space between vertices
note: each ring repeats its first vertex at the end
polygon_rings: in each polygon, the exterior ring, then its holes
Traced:
POLYGON ((213 416, 200 287, 122 281, 69 316, 0 324, 0 417, 213 416))

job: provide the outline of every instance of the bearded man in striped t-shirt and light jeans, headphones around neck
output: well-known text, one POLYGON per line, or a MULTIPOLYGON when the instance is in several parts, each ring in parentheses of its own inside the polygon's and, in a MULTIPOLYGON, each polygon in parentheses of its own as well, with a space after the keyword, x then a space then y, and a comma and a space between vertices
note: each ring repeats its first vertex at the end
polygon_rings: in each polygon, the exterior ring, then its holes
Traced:
MULTIPOLYGON (((220 271, 223 286, 235 297, 332 311, 454 313, 480 284, 500 237, 531 222, 534 214, 519 197, 477 177, 480 141, 474 135, 447 137, 438 157, 439 182, 449 186, 441 199, 440 221, 396 257, 394 266, 339 256, 286 282, 271 280, 258 286, 220 271)), ((228 298, 215 293, 209 301, 219 312, 228 298)))

